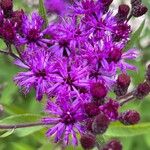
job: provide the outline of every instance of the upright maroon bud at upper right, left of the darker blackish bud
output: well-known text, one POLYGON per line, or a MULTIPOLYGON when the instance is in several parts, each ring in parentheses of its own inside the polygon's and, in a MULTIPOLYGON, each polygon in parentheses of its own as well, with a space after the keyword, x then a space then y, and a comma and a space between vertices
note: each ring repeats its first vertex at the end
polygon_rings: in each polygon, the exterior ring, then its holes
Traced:
POLYGON ((129 14, 130 7, 126 4, 121 4, 116 15, 117 22, 124 22, 129 14))

